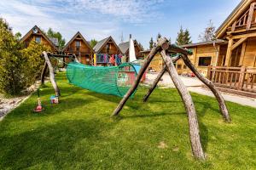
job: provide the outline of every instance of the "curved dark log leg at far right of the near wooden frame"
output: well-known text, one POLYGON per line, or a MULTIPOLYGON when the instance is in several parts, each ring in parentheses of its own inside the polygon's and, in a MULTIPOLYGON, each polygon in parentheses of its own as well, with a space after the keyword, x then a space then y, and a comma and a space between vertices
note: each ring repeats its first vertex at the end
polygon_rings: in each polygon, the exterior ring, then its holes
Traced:
POLYGON ((219 93, 218 89, 215 87, 213 82, 208 80, 206 77, 201 76, 201 73, 195 69, 195 66, 191 63, 191 61, 189 60, 187 55, 182 54, 182 58, 183 58, 184 63, 189 67, 189 69, 192 72, 194 72, 195 76, 198 77, 201 80, 201 82, 204 82, 207 85, 207 87, 211 89, 212 94, 214 94, 216 99, 218 100, 218 107, 219 107, 219 110, 221 111, 224 121, 231 122, 229 111, 225 104, 224 98, 219 93))

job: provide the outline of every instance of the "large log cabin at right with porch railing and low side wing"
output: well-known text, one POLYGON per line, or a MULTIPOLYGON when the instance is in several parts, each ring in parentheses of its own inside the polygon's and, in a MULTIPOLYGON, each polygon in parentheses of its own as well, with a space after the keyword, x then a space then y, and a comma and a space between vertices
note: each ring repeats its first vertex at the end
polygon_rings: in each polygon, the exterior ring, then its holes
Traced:
POLYGON ((191 61, 221 90, 256 97, 256 0, 242 0, 218 27, 216 37, 215 42, 183 48, 193 50, 191 61))

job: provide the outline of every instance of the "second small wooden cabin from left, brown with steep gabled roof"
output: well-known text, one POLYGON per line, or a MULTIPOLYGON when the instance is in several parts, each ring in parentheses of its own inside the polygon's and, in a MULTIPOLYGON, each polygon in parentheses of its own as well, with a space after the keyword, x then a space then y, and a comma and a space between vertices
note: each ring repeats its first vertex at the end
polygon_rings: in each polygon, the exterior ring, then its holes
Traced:
MULTIPOLYGON (((93 65, 94 51, 79 31, 67 42, 62 52, 68 55, 75 54, 84 65, 93 65)), ((66 62, 68 62, 68 59, 66 59, 66 62)))

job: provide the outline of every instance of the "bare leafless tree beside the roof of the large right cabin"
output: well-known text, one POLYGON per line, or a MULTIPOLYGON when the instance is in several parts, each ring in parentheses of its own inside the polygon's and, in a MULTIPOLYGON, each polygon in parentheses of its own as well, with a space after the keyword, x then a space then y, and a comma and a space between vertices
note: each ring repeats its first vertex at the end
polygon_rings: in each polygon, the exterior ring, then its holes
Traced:
POLYGON ((213 26, 212 20, 209 20, 207 28, 205 28, 205 31, 199 35, 199 40, 201 40, 202 42, 209 42, 209 41, 216 40, 215 26, 213 26))

